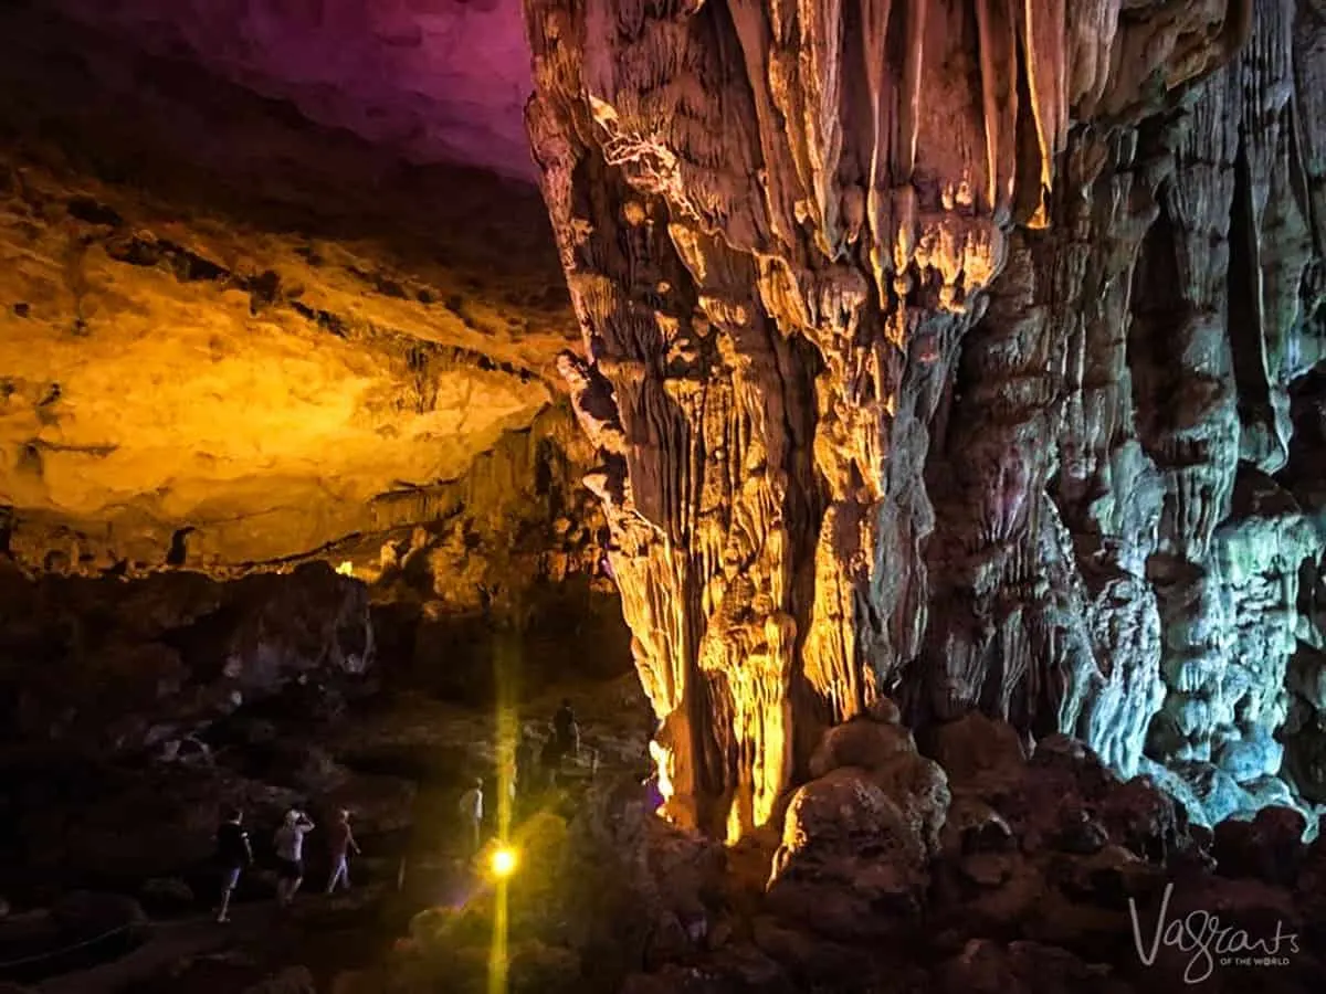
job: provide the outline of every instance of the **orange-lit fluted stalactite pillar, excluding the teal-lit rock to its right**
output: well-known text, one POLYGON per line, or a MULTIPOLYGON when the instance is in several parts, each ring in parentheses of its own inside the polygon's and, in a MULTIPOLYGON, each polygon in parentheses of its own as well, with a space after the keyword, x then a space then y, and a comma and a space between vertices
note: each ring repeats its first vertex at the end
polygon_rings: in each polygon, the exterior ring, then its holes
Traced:
MULTIPOLYGON (((1009 236, 1053 223, 1073 114, 1201 77, 1244 5, 526 0, 585 341, 561 371, 676 820, 769 823, 819 730, 924 656, 923 470, 1009 236)), ((1044 465, 1000 453, 996 538, 1044 465)))

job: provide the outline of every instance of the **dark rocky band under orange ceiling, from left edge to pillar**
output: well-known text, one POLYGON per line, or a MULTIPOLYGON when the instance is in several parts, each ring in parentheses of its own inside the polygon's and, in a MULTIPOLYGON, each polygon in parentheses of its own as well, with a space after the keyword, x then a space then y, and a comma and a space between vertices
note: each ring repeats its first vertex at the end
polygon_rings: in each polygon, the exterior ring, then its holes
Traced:
POLYGON ((292 684, 488 705, 629 672, 589 455, 569 406, 549 407, 461 478, 399 497, 414 524, 349 537, 332 562, 25 575, 0 557, 0 761, 158 749, 292 684), (516 669, 499 672, 508 635, 516 669))

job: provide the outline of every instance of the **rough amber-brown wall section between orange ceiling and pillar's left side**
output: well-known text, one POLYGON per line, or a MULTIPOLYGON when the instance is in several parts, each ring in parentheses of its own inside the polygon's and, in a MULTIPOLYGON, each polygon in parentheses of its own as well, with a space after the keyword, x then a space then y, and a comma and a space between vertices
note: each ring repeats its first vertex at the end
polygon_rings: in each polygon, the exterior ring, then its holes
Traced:
POLYGON ((570 406, 549 407, 463 478, 402 496, 427 524, 341 547, 369 584, 389 680, 473 704, 630 671, 607 526, 581 485, 591 457, 570 406), (495 634, 514 635, 518 672, 497 672, 495 634))

